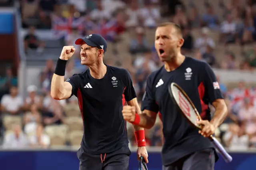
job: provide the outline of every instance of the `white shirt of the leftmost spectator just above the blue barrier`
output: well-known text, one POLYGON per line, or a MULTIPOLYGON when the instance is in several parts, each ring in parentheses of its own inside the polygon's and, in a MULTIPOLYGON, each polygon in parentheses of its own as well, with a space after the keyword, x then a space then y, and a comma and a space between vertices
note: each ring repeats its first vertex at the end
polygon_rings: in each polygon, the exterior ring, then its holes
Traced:
POLYGON ((28 138, 24 133, 20 133, 18 138, 13 132, 4 137, 4 148, 25 148, 28 146, 28 138))

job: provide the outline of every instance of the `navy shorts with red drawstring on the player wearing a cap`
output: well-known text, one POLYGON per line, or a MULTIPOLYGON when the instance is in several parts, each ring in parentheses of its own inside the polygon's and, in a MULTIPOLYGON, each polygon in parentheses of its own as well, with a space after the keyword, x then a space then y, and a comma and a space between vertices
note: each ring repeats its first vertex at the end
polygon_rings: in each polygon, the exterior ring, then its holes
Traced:
POLYGON ((87 154, 80 148, 77 152, 79 170, 129 170, 128 146, 106 154, 87 154))

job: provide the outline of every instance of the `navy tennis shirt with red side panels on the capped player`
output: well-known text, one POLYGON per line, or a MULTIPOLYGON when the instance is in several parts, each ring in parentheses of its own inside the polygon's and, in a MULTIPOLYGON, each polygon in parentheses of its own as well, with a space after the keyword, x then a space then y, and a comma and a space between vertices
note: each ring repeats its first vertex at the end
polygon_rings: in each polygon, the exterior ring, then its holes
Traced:
POLYGON ((87 154, 105 154, 128 147, 122 107, 136 98, 136 92, 126 69, 106 66, 102 79, 94 79, 87 69, 66 80, 72 85, 72 95, 78 98, 84 123, 81 148, 87 154))

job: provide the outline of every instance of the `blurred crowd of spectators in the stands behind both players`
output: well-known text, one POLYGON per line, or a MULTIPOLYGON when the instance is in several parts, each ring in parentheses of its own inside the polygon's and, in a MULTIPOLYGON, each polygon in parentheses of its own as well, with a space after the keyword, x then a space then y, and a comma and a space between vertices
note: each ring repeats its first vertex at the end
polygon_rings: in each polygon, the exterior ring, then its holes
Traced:
MULTIPOLYGON (((159 22, 182 27, 185 55, 214 68, 253 71, 256 67, 255 0, 20 0, 20 11, 22 26, 29 30, 24 36, 26 53, 30 49, 44 53, 46 43, 36 35, 38 29, 54 32, 54 39, 64 45, 74 45, 77 38, 92 33, 104 36, 108 41, 105 63, 130 72, 139 103, 146 78, 163 64, 154 49, 154 29, 159 22)), ((77 50, 68 61, 65 79, 85 69, 77 50)), ((80 144, 82 118, 77 99, 55 101, 50 97, 53 72, 54 62, 48 59, 40 74, 40 87, 30 85, 24 100, 18 95, 17 79, 10 68, 6 70, 0 81, 4 147, 80 144)), ((235 88, 219 83, 229 112, 216 131, 218 140, 230 149, 255 148, 256 87, 243 81, 235 88)), ((130 145, 136 146, 130 124, 128 136, 130 145)), ((146 130, 146 142, 162 146, 159 118, 154 128, 146 130)))

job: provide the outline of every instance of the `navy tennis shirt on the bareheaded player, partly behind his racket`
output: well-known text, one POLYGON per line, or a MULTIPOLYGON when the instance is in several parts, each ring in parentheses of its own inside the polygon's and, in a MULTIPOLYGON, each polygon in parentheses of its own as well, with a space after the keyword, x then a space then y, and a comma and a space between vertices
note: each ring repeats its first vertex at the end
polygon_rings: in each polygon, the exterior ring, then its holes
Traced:
POLYGON ((163 66, 148 77, 141 109, 161 114, 165 139, 162 161, 165 166, 198 150, 214 148, 208 138, 188 123, 170 98, 168 86, 172 82, 188 94, 204 120, 211 119, 208 104, 223 99, 210 65, 190 57, 186 57, 174 71, 167 72, 163 66))

